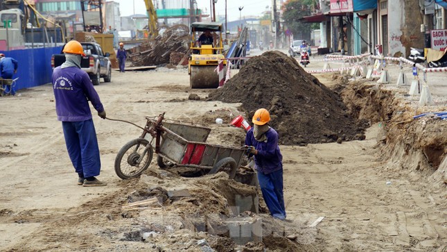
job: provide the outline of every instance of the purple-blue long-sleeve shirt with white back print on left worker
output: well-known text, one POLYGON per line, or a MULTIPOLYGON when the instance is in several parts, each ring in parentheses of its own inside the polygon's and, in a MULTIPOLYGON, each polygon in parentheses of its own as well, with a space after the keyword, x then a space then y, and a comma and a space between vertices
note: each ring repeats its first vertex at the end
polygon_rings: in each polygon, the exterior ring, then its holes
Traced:
POLYGON ((56 67, 51 82, 59 121, 91 119, 89 101, 98 112, 104 111, 89 75, 78 67, 56 67))

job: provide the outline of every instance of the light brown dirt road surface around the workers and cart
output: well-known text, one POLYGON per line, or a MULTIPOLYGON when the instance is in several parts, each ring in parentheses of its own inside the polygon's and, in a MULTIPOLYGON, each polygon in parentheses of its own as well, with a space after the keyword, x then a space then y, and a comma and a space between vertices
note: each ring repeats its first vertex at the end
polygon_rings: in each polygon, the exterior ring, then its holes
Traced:
MULTIPOLYGON (((334 84, 328 76, 320 81, 334 84)), ((209 124, 209 142, 238 145, 243 138, 242 129, 227 126, 240 104, 204 101, 208 91, 191 90, 186 69, 114 72, 112 83, 100 83, 96 90, 110 118, 142 126, 145 116, 166 112, 169 119, 209 124), (188 100, 190 94, 201 100, 188 100), (217 115, 224 124, 213 123, 217 115)), ((143 178, 148 187, 187 188, 206 178, 163 180, 151 178, 150 171, 141 179, 121 180, 114 172, 116 153, 141 132, 94 113, 99 178, 108 185, 80 187, 51 85, 19 94, 0 99, 0 251, 204 251, 196 241, 211 237, 188 228, 165 228, 150 242, 132 239, 143 213, 156 219, 163 210, 129 213, 120 207, 143 178)), ((293 246, 269 248, 274 240, 265 239, 268 251, 447 251, 446 186, 428 184, 422 173, 392 169, 380 159, 381 133, 381 125, 374 124, 363 141, 281 146, 288 225, 301 233, 292 238, 293 246), (324 219, 316 228, 302 228, 319 217, 324 219)), ((150 170, 157 170, 155 158, 150 170)), ((210 204, 205 207, 213 208, 210 204)), ((231 246, 212 247, 232 251, 231 246)))

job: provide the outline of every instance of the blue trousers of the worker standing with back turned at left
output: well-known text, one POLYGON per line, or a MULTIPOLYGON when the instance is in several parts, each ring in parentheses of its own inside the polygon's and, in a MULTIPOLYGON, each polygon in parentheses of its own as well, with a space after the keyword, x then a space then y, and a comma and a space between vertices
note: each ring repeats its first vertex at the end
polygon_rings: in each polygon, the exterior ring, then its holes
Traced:
POLYGON ((80 177, 98 176, 101 168, 93 120, 62 121, 67 151, 80 177))

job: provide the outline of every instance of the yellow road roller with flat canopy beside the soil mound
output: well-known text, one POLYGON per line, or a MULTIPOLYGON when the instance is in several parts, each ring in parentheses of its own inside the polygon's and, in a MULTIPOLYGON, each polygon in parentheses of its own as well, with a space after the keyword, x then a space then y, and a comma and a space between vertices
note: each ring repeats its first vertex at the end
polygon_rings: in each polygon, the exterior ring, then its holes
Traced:
POLYGON ((191 24, 191 56, 189 57, 188 74, 191 88, 217 88, 219 77, 215 72, 219 61, 222 60, 224 72, 227 60, 223 56, 222 23, 194 22, 191 24), (198 43, 199 32, 211 31, 213 44, 198 43), (218 33, 218 34, 216 34, 218 33))

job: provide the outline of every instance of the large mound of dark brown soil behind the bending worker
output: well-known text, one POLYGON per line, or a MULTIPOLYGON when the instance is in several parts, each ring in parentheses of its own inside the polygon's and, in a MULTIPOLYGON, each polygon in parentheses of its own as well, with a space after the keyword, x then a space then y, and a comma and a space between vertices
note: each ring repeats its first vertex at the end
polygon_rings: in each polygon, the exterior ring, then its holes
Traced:
MULTIPOLYGON (((308 144, 362 139, 362 128, 349 115, 340 96, 279 51, 247 61, 209 99, 243 103, 252 118, 258 108, 269 110, 270 126, 280 144, 308 144)), ((251 121, 251 120, 247 120, 251 121)))

